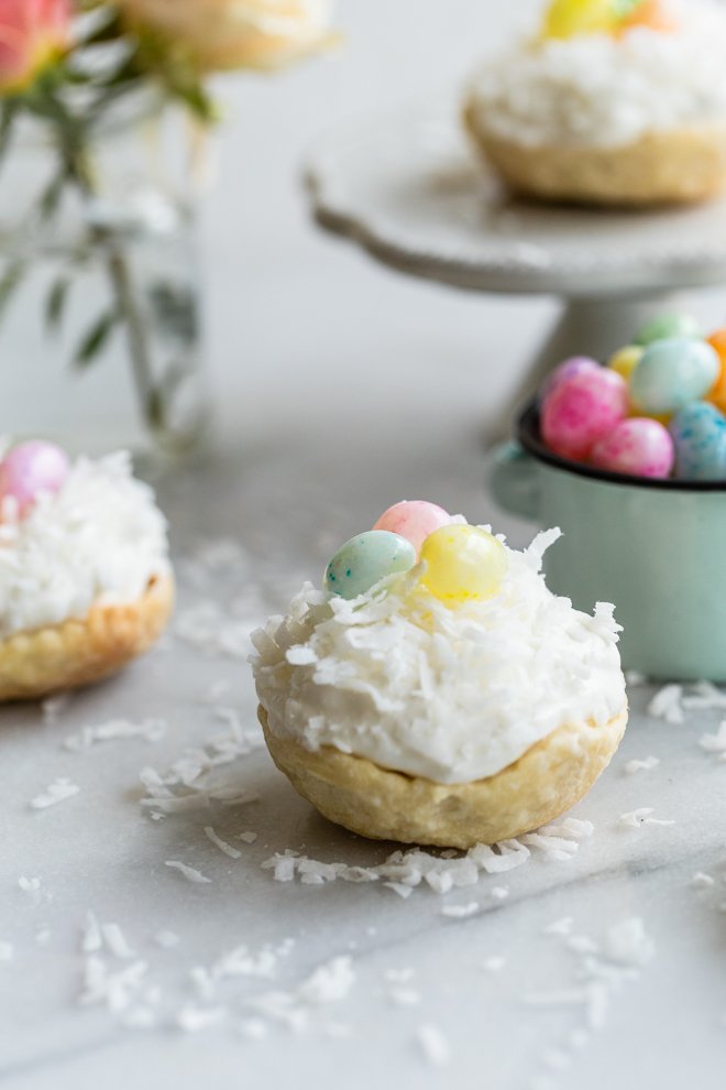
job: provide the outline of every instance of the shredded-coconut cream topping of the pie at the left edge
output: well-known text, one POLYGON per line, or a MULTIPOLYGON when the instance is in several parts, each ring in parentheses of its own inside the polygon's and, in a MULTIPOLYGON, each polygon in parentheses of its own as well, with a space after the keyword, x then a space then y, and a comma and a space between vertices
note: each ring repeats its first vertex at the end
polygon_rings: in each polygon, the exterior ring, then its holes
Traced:
POLYGON ((0 522, 0 637, 82 619, 94 602, 135 601, 169 570, 166 521, 125 454, 79 458, 61 491, 0 522))

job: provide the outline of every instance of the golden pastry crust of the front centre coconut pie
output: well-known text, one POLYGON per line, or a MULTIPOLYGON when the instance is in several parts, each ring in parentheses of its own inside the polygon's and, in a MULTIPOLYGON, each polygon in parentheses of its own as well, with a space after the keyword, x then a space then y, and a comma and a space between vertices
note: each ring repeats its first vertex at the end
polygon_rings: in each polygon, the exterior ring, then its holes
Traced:
POLYGON ((627 709, 604 727, 565 723, 514 764, 469 784, 437 784, 323 746, 278 738, 257 709, 272 757, 320 813, 374 840, 472 848, 537 829, 582 798, 615 753, 627 709))

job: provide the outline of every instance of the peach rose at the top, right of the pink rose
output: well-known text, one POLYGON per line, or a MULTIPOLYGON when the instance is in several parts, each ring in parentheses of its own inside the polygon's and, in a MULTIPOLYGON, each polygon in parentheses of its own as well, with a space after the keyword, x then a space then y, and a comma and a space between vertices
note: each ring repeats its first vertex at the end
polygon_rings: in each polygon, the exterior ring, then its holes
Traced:
POLYGON ((119 0, 201 72, 277 68, 331 41, 332 0, 119 0))

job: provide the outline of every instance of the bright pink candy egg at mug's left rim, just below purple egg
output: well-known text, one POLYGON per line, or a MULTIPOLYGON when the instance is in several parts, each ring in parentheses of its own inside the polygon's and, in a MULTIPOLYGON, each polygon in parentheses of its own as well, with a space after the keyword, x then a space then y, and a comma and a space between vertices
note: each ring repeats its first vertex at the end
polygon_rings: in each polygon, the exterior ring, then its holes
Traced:
POLYGON ((546 399, 542 438, 550 450, 581 461, 627 414, 625 379, 604 367, 585 370, 566 379, 546 399))

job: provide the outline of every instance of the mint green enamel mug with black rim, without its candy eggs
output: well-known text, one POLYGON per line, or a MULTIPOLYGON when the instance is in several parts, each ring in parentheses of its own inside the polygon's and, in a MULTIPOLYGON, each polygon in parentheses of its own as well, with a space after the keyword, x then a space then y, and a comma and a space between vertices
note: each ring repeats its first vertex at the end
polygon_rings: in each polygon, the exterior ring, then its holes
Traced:
POLYGON ((564 536, 546 554, 556 595, 614 602, 626 669, 726 682, 726 481, 648 481, 566 461, 520 417, 492 469, 502 508, 564 536))

